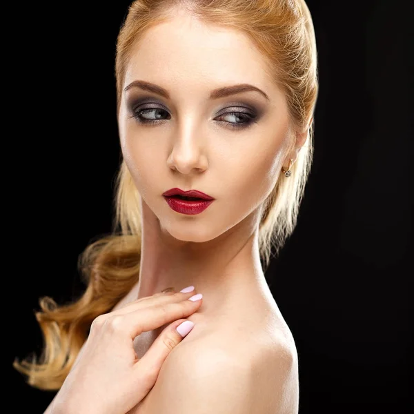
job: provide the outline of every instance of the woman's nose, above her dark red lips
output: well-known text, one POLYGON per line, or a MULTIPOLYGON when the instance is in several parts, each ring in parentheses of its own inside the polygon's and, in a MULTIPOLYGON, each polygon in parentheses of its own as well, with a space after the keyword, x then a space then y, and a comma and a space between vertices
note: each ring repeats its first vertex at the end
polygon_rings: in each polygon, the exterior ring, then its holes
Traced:
POLYGON ((193 170, 203 172, 208 167, 207 157, 199 137, 195 134, 182 134, 175 139, 167 164, 181 174, 190 174, 193 170))

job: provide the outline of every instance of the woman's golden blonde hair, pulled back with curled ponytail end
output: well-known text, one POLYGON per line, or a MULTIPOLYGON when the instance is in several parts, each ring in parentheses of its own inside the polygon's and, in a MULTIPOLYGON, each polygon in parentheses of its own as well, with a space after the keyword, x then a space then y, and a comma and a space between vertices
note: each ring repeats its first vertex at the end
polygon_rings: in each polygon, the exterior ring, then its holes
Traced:
MULTIPOLYGON (((144 33, 171 18, 172 8, 184 6, 204 23, 246 34, 268 63, 275 82, 286 93, 290 124, 307 128, 289 178, 281 177, 262 206, 259 252, 267 268, 275 253, 293 233, 313 157, 313 112, 317 101, 317 49, 311 13, 303 0, 137 0, 117 38, 115 77, 117 111, 132 46, 144 33)), ((295 145, 293 139, 290 149, 295 145)), ((78 268, 86 290, 75 302, 57 306, 50 297, 39 301, 36 313, 44 348, 36 357, 14 361, 28 384, 58 390, 88 337, 92 320, 109 312, 139 279, 141 255, 140 196, 126 164, 121 162, 115 188, 112 233, 91 242, 79 255, 78 268)))

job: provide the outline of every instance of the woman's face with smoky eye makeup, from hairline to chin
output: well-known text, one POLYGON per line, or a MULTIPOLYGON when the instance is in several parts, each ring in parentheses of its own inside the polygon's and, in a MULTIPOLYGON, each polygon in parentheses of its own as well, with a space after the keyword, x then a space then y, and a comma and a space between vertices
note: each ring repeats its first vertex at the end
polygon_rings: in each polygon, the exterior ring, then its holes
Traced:
POLYGON ((284 95, 265 70, 243 34, 188 14, 134 46, 118 117, 121 149, 143 201, 176 239, 214 239, 255 217, 274 188, 289 124, 284 95), (264 93, 217 92, 237 84, 264 93), (163 196, 176 187, 215 200, 199 214, 177 213, 163 196))

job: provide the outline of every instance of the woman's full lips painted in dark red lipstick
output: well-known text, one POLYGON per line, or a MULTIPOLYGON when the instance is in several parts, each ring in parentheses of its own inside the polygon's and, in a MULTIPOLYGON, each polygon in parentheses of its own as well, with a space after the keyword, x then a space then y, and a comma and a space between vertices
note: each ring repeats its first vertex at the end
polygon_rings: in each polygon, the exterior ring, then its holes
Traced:
POLYGON ((184 191, 180 188, 171 188, 163 195, 172 210, 187 215, 201 213, 214 201, 210 195, 197 190, 184 191))

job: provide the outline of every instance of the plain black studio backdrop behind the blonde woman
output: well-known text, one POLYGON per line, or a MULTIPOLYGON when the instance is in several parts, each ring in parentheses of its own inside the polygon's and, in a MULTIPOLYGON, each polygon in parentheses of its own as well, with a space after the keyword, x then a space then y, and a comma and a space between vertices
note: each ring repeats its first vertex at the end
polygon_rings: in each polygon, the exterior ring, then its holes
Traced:
MULTIPOLYGON (((39 297, 77 295, 77 257, 110 232, 115 44, 128 4, 36 2, 13 15, 8 368, 39 355, 39 297)), ((408 1, 308 6, 319 54, 315 157, 295 233, 266 277, 297 344, 299 414, 402 413, 413 400, 411 13, 408 1)), ((55 393, 10 371, 13 411, 42 413, 55 393)))

